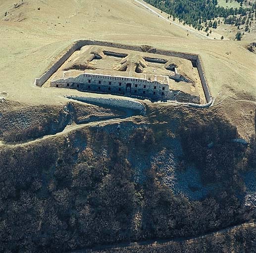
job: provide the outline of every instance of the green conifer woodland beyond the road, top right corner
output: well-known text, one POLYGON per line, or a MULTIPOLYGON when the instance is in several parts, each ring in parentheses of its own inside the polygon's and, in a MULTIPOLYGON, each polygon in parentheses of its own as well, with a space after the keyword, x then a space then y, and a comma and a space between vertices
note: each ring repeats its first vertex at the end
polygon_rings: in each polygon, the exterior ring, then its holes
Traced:
MULTIPOLYGON (((225 24, 240 26, 246 23, 245 32, 249 32, 256 7, 253 1, 248 1, 248 5, 245 6, 244 0, 235 1, 235 3, 239 2, 239 6, 236 7, 223 6, 218 4, 217 0, 146 0, 146 2, 170 14, 169 18, 172 16, 173 20, 177 18, 184 25, 193 26, 198 30, 204 29, 207 36, 211 33, 211 28, 216 29, 222 23, 220 18, 224 18, 225 24)), ((228 0, 226 2, 230 4, 228 0)), ((236 39, 241 40, 241 38, 236 39)))

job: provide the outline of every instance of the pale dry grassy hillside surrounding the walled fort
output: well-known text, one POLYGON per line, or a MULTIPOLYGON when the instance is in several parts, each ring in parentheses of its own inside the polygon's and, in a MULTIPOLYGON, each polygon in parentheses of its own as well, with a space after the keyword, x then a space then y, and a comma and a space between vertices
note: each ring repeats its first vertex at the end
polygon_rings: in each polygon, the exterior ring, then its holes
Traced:
POLYGON ((213 96, 221 99, 226 95, 239 97, 241 93, 244 97, 248 93, 256 95, 254 54, 244 48, 251 41, 201 40, 134 1, 27 0, 16 8, 15 3, 0 2, 0 89, 9 94, 9 100, 29 104, 63 102, 59 96, 67 94, 66 90, 35 88, 34 79, 72 41, 87 38, 198 53, 213 96))

